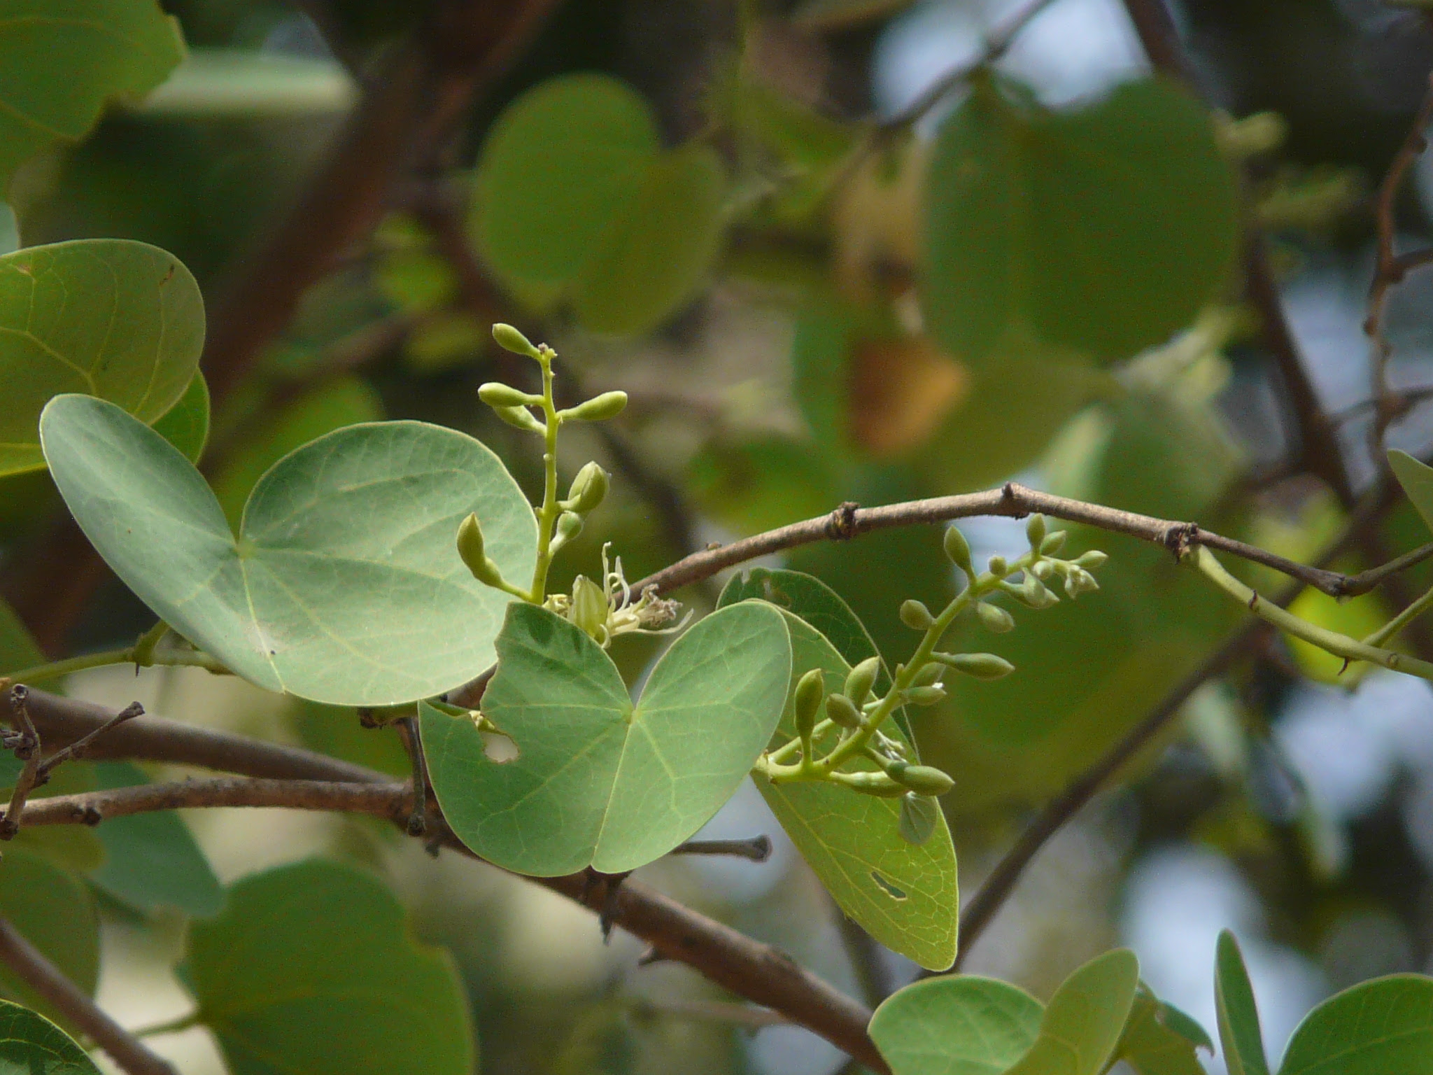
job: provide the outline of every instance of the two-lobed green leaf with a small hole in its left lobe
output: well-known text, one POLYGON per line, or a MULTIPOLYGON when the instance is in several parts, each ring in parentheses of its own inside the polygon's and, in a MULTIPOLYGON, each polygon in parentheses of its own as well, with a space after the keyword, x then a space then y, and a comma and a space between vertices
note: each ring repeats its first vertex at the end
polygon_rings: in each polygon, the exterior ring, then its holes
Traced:
POLYGON ((676 639, 633 707, 596 642, 516 603, 483 714, 517 758, 490 761, 471 720, 420 705, 433 790, 463 843, 507 870, 633 870, 731 798, 777 728, 790 678, 781 613, 734 605, 676 639))

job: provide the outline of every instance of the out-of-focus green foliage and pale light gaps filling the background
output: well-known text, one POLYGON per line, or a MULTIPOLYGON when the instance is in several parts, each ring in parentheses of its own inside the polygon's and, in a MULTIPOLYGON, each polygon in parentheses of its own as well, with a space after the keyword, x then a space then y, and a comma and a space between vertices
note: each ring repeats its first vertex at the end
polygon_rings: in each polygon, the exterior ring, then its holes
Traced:
MULTIPOLYGON (((428 4, 165 7, 183 26, 185 66, 82 143, 30 162, 10 198, 26 245, 162 245, 195 272, 212 311, 428 4)), ((284 453, 381 417, 470 431, 533 490, 539 460, 474 391, 530 374, 490 343, 489 324, 506 320, 557 348, 573 396, 580 384, 632 398, 615 431, 573 433, 567 446, 569 472, 596 457, 616 480, 559 559, 559 588, 595 573, 608 542, 635 580, 711 540, 843 500, 1010 477, 1314 556, 1347 522, 1348 493, 1374 474, 1360 328, 1374 264, 1370 191, 1426 89, 1433 32, 1379 0, 1178 0, 1171 10, 1218 109, 1211 128, 1182 90, 1149 80, 1118 0, 1052 0, 996 76, 904 122, 1020 9, 559 4, 459 138, 413 162, 373 235, 344 251, 218 401, 202 467, 221 505, 236 519, 284 453), (1307 430, 1242 298, 1245 224, 1267 238, 1351 490, 1301 466, 1307 430)), ((1397 204, 1404 239, 1427 236, 1430 208, 1433 168, 1419 162, 1397 204)), ((1410 278, 1389 317, 1393 378, 1414 400, 1390 443, 1420 456, 1433 446, 1433 417, 1417 404, 1433 384, 1430 288, 1429 277, 1410 278)), ((63 585, 37 589, 53 578, 46 558, 73 553, 57 545, 60 515, 43 473, 0 479, 7 598, 53 655, 128 644, 149 613, 92 556, 72 556, 63 585)), ((972 520, 966 532, 977 556, 1020 549, 1013 522, 972 520)), ((1424 540, 1417 516, 1396 509, 1337 566, 1357 570, 1424 540)), ((1166 553, 1073 535, 1073 548, 1091 545, 1112 558, 1098 596, 973 641, 1019 674, 963 682, 919 714, 926 758, 957 781, 946 808, 966 892, 1033 807, 1240 621, 1166 553)), ((893 661, 910 648, 900 601, 939 606, 954 585, 934 530, 808 546, 785 563, 841 592, 893 661)), ((1295 611, 1363 636, 1430 583, 1424 566, 1358 602, 1310 593, 1295 611)), ((709 608, 715 589, 679 596, 709 608)), ((10 658, 26 645, 9 624, 0 641, 10 658)), ((1406 645, 1427 656, 1433 634, 1416 628, 1406 645)), ((638 639, 613 656, 635 679, 655 652, 653 639, 638 639)), ((967 970, 1048 996, 1122 940, 1162 998, 1212 1026, 1214 937, 1232 926, 1275 1052, 1330 992, 1394 970, 1433 973, 1427 684, 1340 674, 1337 659, 1283 642, 1245 656, 1053 841, 967 970)), ((361 728, 353 712, 192 669, 138 681, 107 669, 66 689, 139 697, 162 714, 406 771, 396 735, 361 728)), ((66 773, 82 780, 87 768, 66 773)), ((189 824, 222 880, 314 851, 390 877, 420 933, 457 957, 490 1071, 841 1066, 794 1028, 734 1028, 712 986, 674 965, 636 966, 629 937, 603 945, 595 920, 556 896, 451 856, 428 860, 383 826, 218 810, 189 824)), ((0 906, 24 922, 11 892, 21 863, 40 879, 36 892, 70 883, 54 860, 86 873, 89 892, 46 897, 102 923, 103 960, 76 950, 69 965, 100 975, 102 1003, 128 1025, 160 1022, 182 1010, 168 968, 185 913, 212 909, 212 879, 178 884, 173 906, 136 904, 128 851, 109 831, 99 830, 103 847, 87 833, 63 847, 47 834, 44 847, 7 851, 0 906)), ((851 936, 752 788, 711 826, 758 831, 777 841, 765 864, 669 859, 645 873, 868 999, 914 973, 851 936)), ((202 1031, 153 1041, 185 1072, 219 1069, 202 1031)))

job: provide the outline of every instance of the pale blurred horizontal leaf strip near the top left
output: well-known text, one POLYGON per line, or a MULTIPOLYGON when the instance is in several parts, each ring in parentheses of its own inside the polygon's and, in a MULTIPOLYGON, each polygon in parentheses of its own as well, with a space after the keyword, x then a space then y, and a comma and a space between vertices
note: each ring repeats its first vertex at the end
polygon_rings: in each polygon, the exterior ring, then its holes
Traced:
POLYGON ((132 110, 185 119, 271 119, 347 112, 358 87, 338 60, 195 49, 132 110))

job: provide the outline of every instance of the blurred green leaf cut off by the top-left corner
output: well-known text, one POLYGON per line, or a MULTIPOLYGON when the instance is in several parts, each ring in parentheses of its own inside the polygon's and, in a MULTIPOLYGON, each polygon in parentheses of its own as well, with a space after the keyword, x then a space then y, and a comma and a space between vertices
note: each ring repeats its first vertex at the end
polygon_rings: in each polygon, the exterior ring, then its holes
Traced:
POLYGON ((138 97, 183 57, 156 0, 0 4, 0 188, 56 142, 77 140, 113 97, 138 97))

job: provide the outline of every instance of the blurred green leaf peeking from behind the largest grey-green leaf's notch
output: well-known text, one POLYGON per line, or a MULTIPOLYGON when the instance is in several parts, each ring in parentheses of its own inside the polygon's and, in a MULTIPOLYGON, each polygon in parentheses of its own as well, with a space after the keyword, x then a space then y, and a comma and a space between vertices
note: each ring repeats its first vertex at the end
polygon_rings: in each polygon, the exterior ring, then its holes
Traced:
POLYGON ((334 377, 249 430, 214 477, 214 494, 229 526, 239 529, 244 503, 278 460, 325 433, 383 417, 378 393, 361 377, 334 377))

